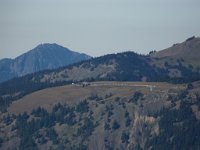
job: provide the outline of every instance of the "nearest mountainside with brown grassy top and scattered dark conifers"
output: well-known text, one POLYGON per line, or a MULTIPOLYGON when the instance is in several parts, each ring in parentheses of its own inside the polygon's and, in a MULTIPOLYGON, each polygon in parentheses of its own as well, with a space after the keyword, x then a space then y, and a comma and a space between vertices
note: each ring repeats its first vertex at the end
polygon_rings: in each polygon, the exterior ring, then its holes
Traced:
POLYGON ((0 116, 0 149, 200 148, 200 82, 91 82, 44 89, 0 116))

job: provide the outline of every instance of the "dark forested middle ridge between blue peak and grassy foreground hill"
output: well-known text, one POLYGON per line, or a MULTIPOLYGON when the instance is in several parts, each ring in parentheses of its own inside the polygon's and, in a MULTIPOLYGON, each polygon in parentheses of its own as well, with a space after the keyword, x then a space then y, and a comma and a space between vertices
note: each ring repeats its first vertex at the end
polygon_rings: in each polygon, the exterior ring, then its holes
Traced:
POLYGON ((149 55, 134 52, 110 54, 59 69, 26 75, 1 83, 0 96, 11 94, 21 97, 39 89, 82 81, 197 81, 200 80, 200 59, 196 58, 200 58, 199 41, 200 38, 192 38, 149 55), (179 52, 174 55, 177 53, 174 52, 176 47, 179 47, 179 52), (165 55, 161 55, 163 53, 165 55))

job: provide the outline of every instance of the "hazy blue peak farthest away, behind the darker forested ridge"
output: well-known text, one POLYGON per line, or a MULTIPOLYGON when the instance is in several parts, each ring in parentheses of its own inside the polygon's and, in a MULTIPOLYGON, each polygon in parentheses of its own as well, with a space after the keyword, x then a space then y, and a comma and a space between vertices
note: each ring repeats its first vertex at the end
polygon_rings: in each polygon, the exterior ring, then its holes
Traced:
POLYGON ((90 59, 57 44, 40 44, 15 59, 0 60, 0 82, 46 69, 55 69, 90 59))

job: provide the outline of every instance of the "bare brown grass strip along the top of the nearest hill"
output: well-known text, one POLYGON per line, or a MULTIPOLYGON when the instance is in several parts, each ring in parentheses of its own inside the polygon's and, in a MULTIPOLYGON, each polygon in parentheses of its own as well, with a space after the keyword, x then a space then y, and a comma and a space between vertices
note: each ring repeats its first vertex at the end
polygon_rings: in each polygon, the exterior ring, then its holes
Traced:
POLYGON ((128 97, 134 91, 165 93, 169 89, 180 89, 183 85, 172 85, 168 83, 148 83, 148 82, 93 82, 91 85, 82 87, 77 85, 66 85, 54 88, 48 88, 29 94, 11 104, 8 108, 9 113, 31 112, 37 107, 44 107, 51 110, 56 103, 76 104, 91 95, 105 97, 112 93, 115 97, 128 97), (153 91, 150 91, 150 86, 153 91))

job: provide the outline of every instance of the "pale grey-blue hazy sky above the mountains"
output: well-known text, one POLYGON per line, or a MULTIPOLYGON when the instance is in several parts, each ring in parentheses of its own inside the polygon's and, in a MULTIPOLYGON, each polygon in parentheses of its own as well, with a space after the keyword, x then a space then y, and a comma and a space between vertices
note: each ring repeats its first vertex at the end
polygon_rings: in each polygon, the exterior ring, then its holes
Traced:
POLYGON ((40 43, 99 56, 200 36, 200 0, 0 0, 0 58, 40 43))

